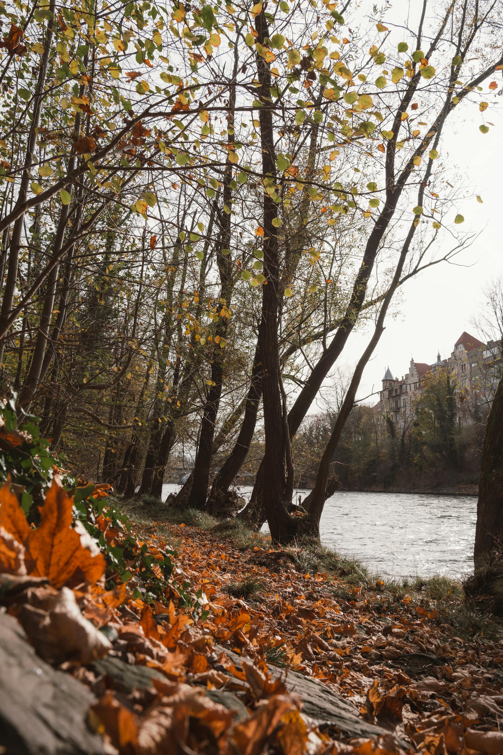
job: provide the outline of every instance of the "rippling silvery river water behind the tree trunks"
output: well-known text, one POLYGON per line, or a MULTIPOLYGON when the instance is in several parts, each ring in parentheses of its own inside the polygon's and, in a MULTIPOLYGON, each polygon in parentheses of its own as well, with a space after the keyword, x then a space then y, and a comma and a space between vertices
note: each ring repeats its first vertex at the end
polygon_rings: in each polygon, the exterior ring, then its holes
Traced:
MULTIPOLYGON (((164 495, 178 489, 164 485, 164 495)), ((471 570, 476 518, 474 496, 339 491, 325 504, 321 541, 381 575, 457 577, 471 570)))

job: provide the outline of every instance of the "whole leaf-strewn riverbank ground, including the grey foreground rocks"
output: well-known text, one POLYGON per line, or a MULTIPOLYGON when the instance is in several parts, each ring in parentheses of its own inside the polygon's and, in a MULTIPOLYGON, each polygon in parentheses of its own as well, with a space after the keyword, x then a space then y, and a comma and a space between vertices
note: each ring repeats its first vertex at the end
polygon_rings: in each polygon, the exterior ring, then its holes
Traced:
MULTIPOLYGON (((57 590, 23 576, 14 553, 0 585, 11 637, 0 646, 11 684, 0 716, 22 745, 8 753, 40 752, 35 739, 25 746, 38 726, 44 752, 66 755, 503 753, 503 625, 465 602, 462 585, 382 579, 195 510, 114 504, 152 569, 176 552, 170 581, 150 598, 141 571, 114 590, 57 590), (61 692, 69 683, 72 698, 61 692), (63 749, 49 747, 54 732, 63 749)), ((27 528, 14 497, 1 511, 9 532, 27 528)), ((111 521, 105 513, 100 528, 113 544, 111 521)))

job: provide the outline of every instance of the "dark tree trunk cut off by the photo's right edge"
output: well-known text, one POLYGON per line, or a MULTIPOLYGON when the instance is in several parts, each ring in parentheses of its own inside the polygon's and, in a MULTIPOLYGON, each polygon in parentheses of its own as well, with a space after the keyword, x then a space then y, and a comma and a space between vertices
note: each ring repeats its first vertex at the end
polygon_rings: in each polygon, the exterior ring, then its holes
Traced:
POLYGON ((503 544, 503 377, 487 418, 482 449, 474 566, 480 570, 503 544))

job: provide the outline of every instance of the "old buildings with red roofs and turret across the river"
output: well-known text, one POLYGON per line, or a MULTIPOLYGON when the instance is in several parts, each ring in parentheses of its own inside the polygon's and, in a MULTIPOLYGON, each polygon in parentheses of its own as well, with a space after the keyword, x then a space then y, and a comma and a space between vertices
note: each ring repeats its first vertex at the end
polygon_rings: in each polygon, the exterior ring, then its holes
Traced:
POLYGON ((441 359, 440 353, 431 364, 411 359, 409 371, 402 377, 393 377, 390 368, 386 368, 379 396, 383 424, 391 421, 397 434, 406 432, 428 377, 442 369, 452 371, 459 423, 480 421, 489 411, 501 376, 501 341, 484 344, 465 331, 446 359, 441 359))

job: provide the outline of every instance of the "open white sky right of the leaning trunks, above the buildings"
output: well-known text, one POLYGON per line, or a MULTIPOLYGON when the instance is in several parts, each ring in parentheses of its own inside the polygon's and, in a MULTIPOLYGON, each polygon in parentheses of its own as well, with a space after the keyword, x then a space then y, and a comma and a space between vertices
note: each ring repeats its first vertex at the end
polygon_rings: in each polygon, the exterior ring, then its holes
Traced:
MULTIPOLYGON (((418 4, 419 5, 419 4, 418 4)), ((394 4, 408 7, 406 0, 394 4)), ((390 12, 391 14, 394 14, 390 12)), ((494 78, 501 86, 501 71, 494 78)), ((495 98, 489 93, 489 82, 483 85, 489 103, 495 98)), ((443 140, 442 156, 449 158, 465 176, 466 197, 459 202, 458 211, 465 217, 463 230, 480 233, 471 248, 457 257, 457 264, 441 263, 403 286, 394 311, 396 318, 388 316, 373 360, 363 373, 357 398, 367 396, 382 387, 385 367, 389 365, 394 376, 408 371, 411 356, 416 362, 431 364, 437 358, 449 356, 455 341, 463 331, 478 336, 472 321, 480 310, 483 288, 493 278, 503 276, 503 116, 491 106, 485 113, 486 121, 494 124, 488 134, 481 134, 481 113, 473 104, 467 104, 450 116, 446 127, 448 137, 443 140), (490 114, 489 114, 490 112, 490 114), (483 199, 477 202, 476 195, 483 199)), ((446 248, 449 240, 446 235, 446 248)), ((369 331, 353 334, 342 355, 342 368, 354 367, 368 342, 369 331)), ((481 338, 483 340, 483 338, 481 338)), ((332 377, 326 382, 323 393, 330 393, 332 377)), ((375 403, 379 396, 368 399, 375 403)), ((317 402, 322 408, 323 401, 317 402)), ((314 405, 311 411, 319 411, 314 405)))

